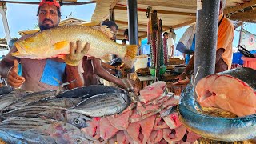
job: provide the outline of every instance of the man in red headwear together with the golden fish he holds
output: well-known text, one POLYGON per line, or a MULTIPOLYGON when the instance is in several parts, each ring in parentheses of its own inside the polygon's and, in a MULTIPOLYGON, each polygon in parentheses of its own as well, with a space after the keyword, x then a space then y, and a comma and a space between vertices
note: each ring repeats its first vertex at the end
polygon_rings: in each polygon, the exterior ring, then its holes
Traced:
POLYGON ((102 31, 86 26, 58 26, 60 17, 56 0, 40 2, 38 26, 41 31, 20 38, 0 62, 0 74, 9 86, 22 86, 23 90, 30 91, 56 90, 60 83, 73 80, 69 89, 84 86, 78 65, 85 55, 102 58, 116 54, 126 66, 134 65, 138 46, 122 46, 102 31), (18 62, 22 64, 22 76, 17 74, 18 62))

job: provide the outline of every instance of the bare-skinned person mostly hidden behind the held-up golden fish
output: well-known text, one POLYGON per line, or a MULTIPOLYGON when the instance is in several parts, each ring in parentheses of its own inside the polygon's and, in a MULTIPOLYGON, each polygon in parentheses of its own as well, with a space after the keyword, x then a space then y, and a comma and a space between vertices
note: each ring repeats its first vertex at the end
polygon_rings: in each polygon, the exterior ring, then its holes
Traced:
MULTIPOLYGON (((113 21, 103 22, 102 25, 106 25, 110 30, 114 32, 114 36, 118 32, 118 26, 113 21)), ((115 38, 110 38, 115 39, 115 38)), ((109 69, 116 68, 114 66, 110 66, 106 63, 103 63, 100 59, 94 57, 85 56, 82 60, 83 67, 83 78, 85 82, 85 86, 96 85, 101 83, 99 78, 103 78, 106 81, 113 82, 118 86, 124 87, 124 83, 122 79, 115 77, 113 74, 110 74, 112 71, 109 69)))

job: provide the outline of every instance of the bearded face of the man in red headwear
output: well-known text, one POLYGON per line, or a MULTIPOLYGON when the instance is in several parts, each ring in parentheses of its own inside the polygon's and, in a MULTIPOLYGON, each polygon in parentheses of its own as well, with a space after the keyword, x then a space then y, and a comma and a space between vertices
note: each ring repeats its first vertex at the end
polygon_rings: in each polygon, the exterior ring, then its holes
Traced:
POLYGON ((38 14, 38 26, 40 30, 47 30, 58 26, 60 17, 56 6, 44 4, 40 7, 38 14))

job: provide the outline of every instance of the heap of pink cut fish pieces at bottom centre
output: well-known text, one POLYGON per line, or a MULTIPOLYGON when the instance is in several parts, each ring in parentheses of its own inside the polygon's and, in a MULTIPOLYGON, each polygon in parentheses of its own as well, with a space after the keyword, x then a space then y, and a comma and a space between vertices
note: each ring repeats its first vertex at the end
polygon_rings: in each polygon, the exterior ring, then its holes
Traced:
POLYGON ((193 143, 200 138, 179 121, 179 97, 166 92, 166 82, 146 86, 138 98, 121 114, 94 115, 82 130, 98 143, 193 143))

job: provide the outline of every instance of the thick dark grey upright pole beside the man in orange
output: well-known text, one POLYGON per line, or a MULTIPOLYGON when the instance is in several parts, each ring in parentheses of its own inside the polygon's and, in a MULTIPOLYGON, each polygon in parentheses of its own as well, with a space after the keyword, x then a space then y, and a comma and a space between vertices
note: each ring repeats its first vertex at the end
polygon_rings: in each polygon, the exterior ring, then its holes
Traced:
POLYGON ((215 71, 219 4, 220 0, 203 0, 197 13, 194 86, 215 71))

